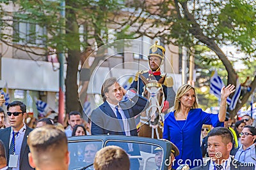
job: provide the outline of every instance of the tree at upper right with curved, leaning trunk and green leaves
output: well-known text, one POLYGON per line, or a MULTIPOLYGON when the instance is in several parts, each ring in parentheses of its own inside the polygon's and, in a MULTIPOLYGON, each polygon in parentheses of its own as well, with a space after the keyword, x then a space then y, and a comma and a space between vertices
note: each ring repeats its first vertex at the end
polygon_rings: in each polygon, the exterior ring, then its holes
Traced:
MULTIPOLYGON (((127 24, 137 27, 137 33, 151 38, 161 37, 164 43, 187 46, 207 46, 221 60, 227 71, 227 83, 236 85, 240 73, 234 70, 231 60, 223 53, 221 46, 236 46, 237 50, 246 53, 243 60, 246 67, 251 68, 252 90, 241 95, 241 103, 230 111, 232 117, 248 100, 256 88, 255 76, 255 1, 135 1, 131 7, 142 18, 129 20, 127 24), (141 15, 140 15, 141 14, 141 15), (136 22, 134 22, 136 20, 136 22), (147 24, 145 24, 147 23, 147 24), (161 29, 157 29, 160 27, 161 29), (143 28, 143 29, 142 29, 143 28)), ((124 23, 127 20, 124 21, 124 23)), ((192 52, 192 50, 191 50, 192 52)))

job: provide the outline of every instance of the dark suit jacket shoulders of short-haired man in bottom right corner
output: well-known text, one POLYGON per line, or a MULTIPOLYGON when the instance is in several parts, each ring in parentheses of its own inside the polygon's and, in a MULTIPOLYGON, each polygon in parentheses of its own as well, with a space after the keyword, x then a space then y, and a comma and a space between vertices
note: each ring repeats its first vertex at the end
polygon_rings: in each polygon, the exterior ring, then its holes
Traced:
MULTIPOLYGON (((230 162, 230 170, 253 170, 254 169, 254 165, 251 166, 243 166, 243 163, 235 160, 235 159, 231 159, 232 162, 230 162)), ((207 161, 206 165, 202 165, 202 166, 197 166, 192 168, 193 170, 209 170, 209 166, 210 166, 210 160, 207 161)), ((244 164, 245 165, 245 164, 244 164)))

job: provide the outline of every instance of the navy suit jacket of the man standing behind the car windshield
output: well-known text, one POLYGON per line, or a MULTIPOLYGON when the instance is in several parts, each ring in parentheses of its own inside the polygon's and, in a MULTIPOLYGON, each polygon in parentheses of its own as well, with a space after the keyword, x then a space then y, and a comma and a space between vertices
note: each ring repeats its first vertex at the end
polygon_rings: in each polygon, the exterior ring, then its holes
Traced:
MULTIPOLYGON (((138 136, 134 117, 147 108, 147 99, 138 96, 119 103, 124 111, 125 117, 129 122, 131 136, 138 136)), ((114 111, 108 102, 104 102, 98 108, 92 111, 92 134, 116 134, 123 135, 122 128, 116 118, 114 111)))

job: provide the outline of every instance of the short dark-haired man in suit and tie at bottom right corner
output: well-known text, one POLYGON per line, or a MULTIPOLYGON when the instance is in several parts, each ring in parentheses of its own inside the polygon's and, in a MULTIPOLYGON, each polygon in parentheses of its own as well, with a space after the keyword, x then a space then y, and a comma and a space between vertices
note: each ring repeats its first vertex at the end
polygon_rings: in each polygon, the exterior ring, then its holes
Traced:
POLYGON ((232 150, 232 133, 226 127, 215 127, 208 134, 208 150, 211 158, 203 166, 194 167, 194 170, 224 170, 224 169, 254 169, 253 164, 243 164, 230 156, 232 150))

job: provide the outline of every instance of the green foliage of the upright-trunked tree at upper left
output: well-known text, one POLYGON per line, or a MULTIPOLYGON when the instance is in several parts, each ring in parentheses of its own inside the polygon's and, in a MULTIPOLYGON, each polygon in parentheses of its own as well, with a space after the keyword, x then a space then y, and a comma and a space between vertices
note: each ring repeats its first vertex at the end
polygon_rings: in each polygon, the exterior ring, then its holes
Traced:
MULTIPOLYGON (((11 1, 1 2, 8 4, 11 1)), ((97 38, 97 36, 102 36, 100 34, 102 31, 108 32, 109 24, 111 24, 109 15, 124 8, 123 3, 117 0, 67 0, 65 1, 65 25, 60 14, 61 10, 63 10, 63 7, 60 6, 61 0, 22 0, 15 2, 17 10, 14 13, 8 13, 3 4, 0 4, 0 18, 2 18, 0 19, 0 23, 1 28, 6 29, 13 27, 14 31, 17 33, 19 30, 15 30, 17 29, 15 25, 10 25, 10 20, 12 20, 13 23, 26 22, 39 25, 46 29, 47 34, 38 35, 36 31, 30 31, 26 36, 34 36, 35 39, 44 39, 44 48, 46 51, 51 47, 55 48, 58 53, 61 52, 63 46, 65 46, 67 52, 67 50, 77 49, 79 46, 88 46, 89 41, 93 41, 92 39, 96 39, 98 45, 103 44, 102 39, 106 39, 106 37, 97 38), (12 17, 12 15, 14 17, 12 17), (10 20, 4 20, 4 17, 10 18, 10 20), (84 32, 74 32, 70 30, 70 26, 74 25, 74 23, 76 23, 78 27, 83 25, 88 30, 84 32), (61 30, 65 30, 68 34, 62 34, 61 30), (84 37, 85 39, 84 41, 78 42, 80 44, 76 44, 74 43, 74 39, 77 37, 84 37)), ((127 28, 128 27, 124 27, 124 30, 118 34, 118 38, 131 38, 133 36, 133 34, 127 33, 127 28)), ((0 35, 0 39, 9 39, 10 41, 12 36, 12 33, 5 35, 5 37, 0 35)), ((19 41, 22 41, 24 45, 29 43, 27 38, 20 38, 19 35, 15 34, 14 36, 14 43, 19 41)), ((108 36, 108 34, 106 34, 106 36, 108 36)))

